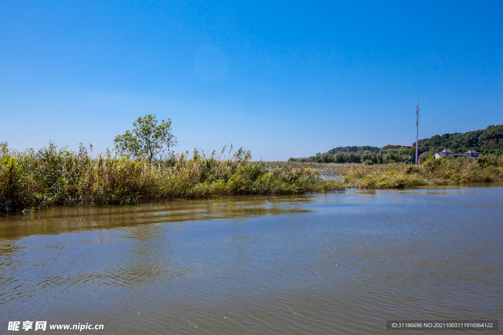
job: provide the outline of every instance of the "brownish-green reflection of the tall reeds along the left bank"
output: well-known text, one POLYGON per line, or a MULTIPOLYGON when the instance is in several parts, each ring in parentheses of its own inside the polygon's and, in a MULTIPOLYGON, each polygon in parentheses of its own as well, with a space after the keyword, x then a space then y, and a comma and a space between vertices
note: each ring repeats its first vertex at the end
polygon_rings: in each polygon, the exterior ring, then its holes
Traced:
POLYGON ((243 219, 306 211, 301 204, 309 196, 231 196, 212 199, 175 199, 135 206, 52 207, 30 215, 0 219, 0 237, 59 234, 138 224, 215 219, 243 219))

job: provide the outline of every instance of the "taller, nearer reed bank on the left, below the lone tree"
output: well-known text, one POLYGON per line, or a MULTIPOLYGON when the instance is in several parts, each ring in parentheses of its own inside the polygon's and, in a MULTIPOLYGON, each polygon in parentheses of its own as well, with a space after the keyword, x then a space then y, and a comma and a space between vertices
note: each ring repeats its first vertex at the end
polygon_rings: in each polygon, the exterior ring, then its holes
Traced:
POLYGON ((229 194, 287 194, 342 188, 309 168, 268 168, 238 150, 222 158, 195 151, 148 163, 87 148, 49 146, 39 151, 0 148, 0 211, 49 205, 135 203, 144 200, 229 194))

